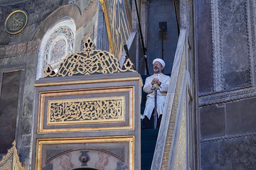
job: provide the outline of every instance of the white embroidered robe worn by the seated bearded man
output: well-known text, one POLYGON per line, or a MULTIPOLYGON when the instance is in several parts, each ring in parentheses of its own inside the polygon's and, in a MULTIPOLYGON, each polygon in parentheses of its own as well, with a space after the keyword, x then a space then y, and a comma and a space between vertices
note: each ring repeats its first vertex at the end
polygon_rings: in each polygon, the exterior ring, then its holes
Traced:
POLYGON ((154 90, 151 90, 153 85, 151 85, 151 81, 157 78, 161 82, 159 86, 160 90, 157 90, 157 115, 158 117, 163 114, 164 111, 164 103, 167 95, 167 90, 169 87, 170 76, 164 75, 163 73, 160 74, 153 74, 146 78, 143 91, 148 93, 146 107, 144 110, 144 114, 141 115, 141 119, 144 119, 145 116, 150 119, 153 109, 155 108, 155 93, 154 90))

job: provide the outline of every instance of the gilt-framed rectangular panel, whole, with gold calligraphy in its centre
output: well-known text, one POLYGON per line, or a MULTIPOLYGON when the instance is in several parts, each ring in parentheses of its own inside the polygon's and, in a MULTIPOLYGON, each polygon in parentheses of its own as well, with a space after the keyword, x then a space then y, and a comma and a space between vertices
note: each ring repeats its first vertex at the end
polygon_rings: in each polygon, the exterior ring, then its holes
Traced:
POLYGON ((134 86, 39 92, 38 134, 133 129, 134 86))

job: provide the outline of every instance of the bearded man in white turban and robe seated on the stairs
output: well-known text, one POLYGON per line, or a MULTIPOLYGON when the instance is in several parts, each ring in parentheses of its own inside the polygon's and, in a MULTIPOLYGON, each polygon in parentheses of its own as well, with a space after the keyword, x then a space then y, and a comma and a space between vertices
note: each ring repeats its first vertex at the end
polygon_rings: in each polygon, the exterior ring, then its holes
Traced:
POLYGON ((154 108, 155 108, 155 93, 154 90, 151 90, 154 84, 158 84, 159 90, 157 90, 157 125, 160 126, 161 118, 164 110, 164 103, 167 95, 167 90, 169 87, 170 76, 164 75, 162 73, 165 63, 162 59, 155 59, 153 61, 153 70, 154 74, 147 77, 143 91, 148 93, 146 107, 144 110, 142 119, 142 129, 149 129, 151 126, 150 118, 154 108))

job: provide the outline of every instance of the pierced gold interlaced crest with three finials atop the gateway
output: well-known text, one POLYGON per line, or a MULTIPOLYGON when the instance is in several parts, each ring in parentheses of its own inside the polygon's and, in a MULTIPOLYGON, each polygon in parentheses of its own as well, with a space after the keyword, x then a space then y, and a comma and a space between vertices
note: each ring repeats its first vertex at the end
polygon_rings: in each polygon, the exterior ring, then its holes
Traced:
POLYGON ((44 70, 44 77, 113 74, 119 72, 136 72, 132 61, 128 58, 124 63, 124 70, 119 66, 118 59, 110 52, 95 50, 90 37, 84 42, 81 52, 70 54, 60 62, 58 72, 55 73, 50 65, 44 70))

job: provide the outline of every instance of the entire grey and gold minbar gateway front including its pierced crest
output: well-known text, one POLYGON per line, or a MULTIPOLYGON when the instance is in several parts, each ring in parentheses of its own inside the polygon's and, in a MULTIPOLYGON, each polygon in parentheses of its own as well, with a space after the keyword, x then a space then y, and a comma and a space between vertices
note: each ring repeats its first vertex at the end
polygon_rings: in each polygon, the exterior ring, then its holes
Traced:
POLYGON ((35 83, 31 170, 140 169, 142 81, 133 68, 90 38, 57 71, 47 65, 35 83))

